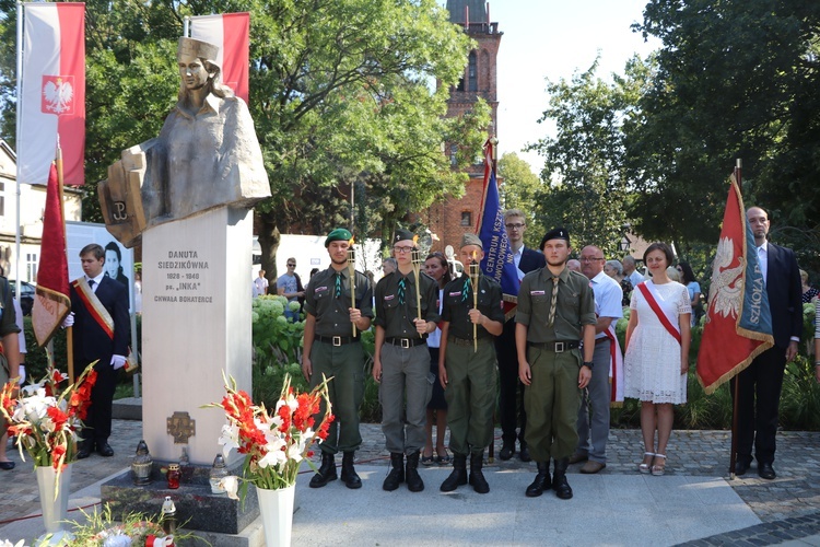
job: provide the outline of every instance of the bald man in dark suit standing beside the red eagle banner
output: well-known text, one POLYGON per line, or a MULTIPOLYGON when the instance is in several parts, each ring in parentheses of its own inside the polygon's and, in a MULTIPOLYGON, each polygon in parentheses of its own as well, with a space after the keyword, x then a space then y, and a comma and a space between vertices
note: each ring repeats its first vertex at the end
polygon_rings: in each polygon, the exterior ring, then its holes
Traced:
POLYGON ((754 252, 758 253, 766 284, 774 347, 758 356, 735 377, 735 381, 740 382, 735 474, 743 475, 749 469, 754 444, 758 475, 771 480, 776 476, 772 464, 783 373, 786 363, 797 354, 803 330, 800 270, 792 249, 766 241, 770 224, 769 214, 763 209, 750 207, 746 211, 746 219, 754 235, 754 252))

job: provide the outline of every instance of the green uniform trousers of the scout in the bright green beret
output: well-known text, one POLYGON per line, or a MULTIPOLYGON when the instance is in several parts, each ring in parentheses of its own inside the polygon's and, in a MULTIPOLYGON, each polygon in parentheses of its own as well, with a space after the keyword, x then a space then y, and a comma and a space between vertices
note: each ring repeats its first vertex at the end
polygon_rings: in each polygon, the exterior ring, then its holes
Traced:
MULTIPOLYGON (((359 432, 359 407, 364 397, 364 350, 361 342, 333 346, 315 340, 311 349, 313 375, 311 387, 321 383, 321 375, 332 380, 328 382, 330 404, 336 419, 330 423, 327 440, 319 444, 321 452, 352 452, 362 444, 359 432)), ((325 412, 323 401, 321 410, 325 412)), ((319 427, 319 418, 316 418, 319 427)))

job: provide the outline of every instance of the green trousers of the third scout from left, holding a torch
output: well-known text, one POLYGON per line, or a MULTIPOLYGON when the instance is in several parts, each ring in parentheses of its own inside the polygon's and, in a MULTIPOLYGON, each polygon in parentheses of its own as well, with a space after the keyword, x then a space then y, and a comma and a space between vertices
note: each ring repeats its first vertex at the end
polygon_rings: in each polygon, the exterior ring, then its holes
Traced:
POLYGON ((460 346, 447 341, 447 427, 449 447, 456 454, 480 454, 493 439, 495 408, 495 347, 491 338, 460 346))

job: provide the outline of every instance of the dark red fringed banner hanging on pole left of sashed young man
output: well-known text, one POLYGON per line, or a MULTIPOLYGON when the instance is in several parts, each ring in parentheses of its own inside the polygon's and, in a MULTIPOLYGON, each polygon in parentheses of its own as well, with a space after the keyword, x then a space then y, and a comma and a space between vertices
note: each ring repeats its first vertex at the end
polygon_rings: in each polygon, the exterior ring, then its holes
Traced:
POLYGON ((32 327, 37 344, 48 344, 71 311, 66 257, 66 224, 62 218, 57 167, 51 164, 43 217, 43 242, 37 268, 37 293, 32 307, 32 327))

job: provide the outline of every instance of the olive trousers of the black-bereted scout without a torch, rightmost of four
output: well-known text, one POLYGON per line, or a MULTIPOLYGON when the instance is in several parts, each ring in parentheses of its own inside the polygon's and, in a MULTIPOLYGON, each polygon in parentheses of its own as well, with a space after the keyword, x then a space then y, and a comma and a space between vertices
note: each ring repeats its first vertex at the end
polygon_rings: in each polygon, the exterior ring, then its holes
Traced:
POLYGON ((530 346, 527 360, 532 382, 524 392, 529 452, 536 462, 569 457, 578 444, 581 353, 576 349, 555 353, 530 346))

